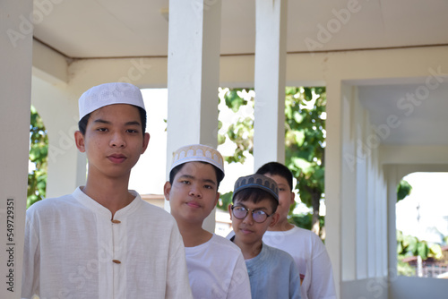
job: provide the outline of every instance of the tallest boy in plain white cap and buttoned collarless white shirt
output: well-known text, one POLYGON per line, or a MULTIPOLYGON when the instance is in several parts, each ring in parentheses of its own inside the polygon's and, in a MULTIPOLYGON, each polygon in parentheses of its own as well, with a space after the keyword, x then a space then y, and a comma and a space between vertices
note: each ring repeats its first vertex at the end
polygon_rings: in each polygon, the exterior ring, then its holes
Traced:
POLYGON ((87 182, 27 210, 22 298, 192 298, 175 219, 128 190, 150 140, 142 93, 101 84, 79 107, 87 182))

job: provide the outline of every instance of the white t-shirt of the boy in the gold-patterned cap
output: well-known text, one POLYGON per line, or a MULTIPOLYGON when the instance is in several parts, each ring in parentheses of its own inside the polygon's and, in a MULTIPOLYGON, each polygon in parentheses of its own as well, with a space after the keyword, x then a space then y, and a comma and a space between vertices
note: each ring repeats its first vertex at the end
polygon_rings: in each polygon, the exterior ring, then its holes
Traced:
POLYGON ((194 299, 251 298, 246 263, 239 247, 219 236, 185 247, 194 299))

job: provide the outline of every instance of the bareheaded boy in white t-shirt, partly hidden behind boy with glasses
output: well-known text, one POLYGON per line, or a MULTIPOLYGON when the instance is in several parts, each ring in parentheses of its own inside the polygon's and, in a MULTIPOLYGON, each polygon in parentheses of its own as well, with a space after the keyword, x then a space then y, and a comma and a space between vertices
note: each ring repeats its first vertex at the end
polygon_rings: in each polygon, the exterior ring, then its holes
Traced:
POLYGON ((292 174, 288 167, 270 162, 257 172, 274 180, 279 186, 280 218, 268 228, 263 242, 288 252, 296 261, 302 281, 302 299, 336 299, 332 262, 322 240, 313 232, 294 226, 288 221, 289 207, 294 203, 292 174))

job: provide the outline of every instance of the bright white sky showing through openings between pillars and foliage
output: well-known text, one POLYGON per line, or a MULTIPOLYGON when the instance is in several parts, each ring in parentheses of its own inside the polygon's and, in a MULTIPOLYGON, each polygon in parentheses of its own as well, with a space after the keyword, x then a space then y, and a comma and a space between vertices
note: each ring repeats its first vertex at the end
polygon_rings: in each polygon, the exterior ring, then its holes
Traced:
MULTIPOLYGON (((147 132, 150 132, 151 140, 148 149, 133 169, 129 188, 141 194, 163 194, 167 167, 167 125, 164 120, 167 119, 168 91, 166 89, 142 90, 142 94, 148 114, 147 132)), ((237 114, 234 114, 221 101, 220 120, 223 122, 223 127, 220 132, 226 131, 228 123, 235 117, 253 114, 250 108, 244 109, 246 110, 240 109, 237 114)), ((226 156, 233 152, 234 146, 231 142, 226 142, 218 149, 226 156)), ((250 175, 254 171, 254 160, 252 156, 248 156, 244 165, 226 163, 224 167, 226 176, 220 184, 221 193, 231 191, 239 176, 250 175)), ((397 229, 404 235, 415 235, 428 242, 442 242, 435 227, 443 235, 448 235, 448 184, 446 184, 448 173, 415 173, 405 176, 404 179, 413 189, 407 198, 397 203, 397 229), (418 205, 419 209, 417 209, 418 205)), ((309 209, 305 205, 299 205, 297 208, 297 211, 306 212, 307 210, 309 209)))

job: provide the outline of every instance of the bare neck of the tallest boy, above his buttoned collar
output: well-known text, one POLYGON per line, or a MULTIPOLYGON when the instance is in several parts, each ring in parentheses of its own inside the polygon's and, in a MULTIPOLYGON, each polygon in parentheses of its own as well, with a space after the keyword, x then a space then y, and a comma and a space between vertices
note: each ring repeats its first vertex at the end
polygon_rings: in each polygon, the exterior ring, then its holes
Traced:
POLYGON ((110 210, 112 219, 117 210, 125 208, 134 201, 134 195, 128 191, 128 180, 89 180, 82 188, 82 192, 100 205, 110 210))

